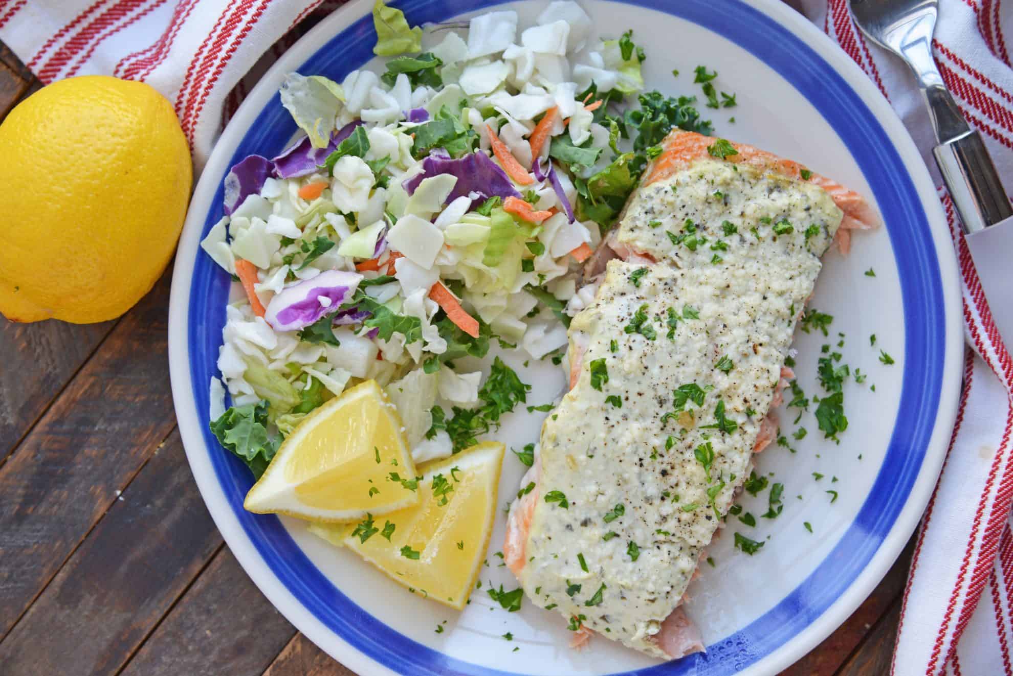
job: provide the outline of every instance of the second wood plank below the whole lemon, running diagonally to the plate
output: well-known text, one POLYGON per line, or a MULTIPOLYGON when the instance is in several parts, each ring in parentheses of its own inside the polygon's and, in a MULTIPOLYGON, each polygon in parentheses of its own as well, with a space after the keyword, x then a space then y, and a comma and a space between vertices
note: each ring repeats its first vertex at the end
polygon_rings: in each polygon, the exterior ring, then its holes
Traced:
POLYGON ((169 275, 115 326, 0 467, 0 636, 175 426, 169 275))

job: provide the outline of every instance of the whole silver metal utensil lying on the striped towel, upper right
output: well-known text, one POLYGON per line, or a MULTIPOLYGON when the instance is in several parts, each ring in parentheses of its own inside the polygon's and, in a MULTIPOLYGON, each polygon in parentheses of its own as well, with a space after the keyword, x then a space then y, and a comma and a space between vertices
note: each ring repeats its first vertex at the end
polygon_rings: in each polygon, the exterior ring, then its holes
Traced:
POLYGON ((1013 216, 982 137, 967 126, 932 57, 937 0, 849 0, 848 4, 862 32, 914 71, 939 142, 933 154, 964 231, 975 234, 1013 216))

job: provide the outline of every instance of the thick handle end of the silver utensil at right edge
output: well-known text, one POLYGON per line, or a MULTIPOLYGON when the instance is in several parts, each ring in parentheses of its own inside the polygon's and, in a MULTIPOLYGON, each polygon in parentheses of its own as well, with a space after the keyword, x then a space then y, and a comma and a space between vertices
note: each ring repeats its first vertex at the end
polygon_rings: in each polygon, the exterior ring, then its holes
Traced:
POLYGON ((961 134, 932 152, 965 233, 977 233, 1013 216, 999 172, 978 132, 961 134))

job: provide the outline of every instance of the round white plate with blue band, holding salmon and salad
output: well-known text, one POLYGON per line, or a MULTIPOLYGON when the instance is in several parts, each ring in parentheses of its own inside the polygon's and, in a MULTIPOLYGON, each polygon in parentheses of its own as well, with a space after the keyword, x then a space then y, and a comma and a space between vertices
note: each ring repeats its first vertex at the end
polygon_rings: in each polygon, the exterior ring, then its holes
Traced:
MULTIPOLYGON (((416 24, 494 3, 398 4, 416 24)), ((540 3, 510 6, 521 12, 523 24, 540 3)), ((666 665, 600 638, 587 650, 571 651, 570 632, 557 614, 530 603, 508 613, 484 591, 476 591, 468 608, 456 613, 407 593, 354 555, 310 535, 296 520, 244 512, 250 475, 208 429, 208 382, 215 374, 229 280, 198 244, 221 216, 229 167, 251 153, 277 154, 295 132, 277 95, 285 74, 298 70, 340 80, 372 58, 371 0, 342 7, 264 76, 215 148, 176 256, 169 356, 190 467, 229 546, 297 627, 360 673, 776 673, 836 628, 873 589, 935 484, 959 383, 956 266, 928 173, 888 104, 837 46, 777 0, 589 0, 583 6, 603 36, 633 28, 634 40, 647 54, 648 88, 698 94, 693 68, 716 69, 719 88, 735 92, 738 101, 731 109, 701 105, 716 134, 798 160, 876 204, 886 228, 857 235, 848 258, 836 252, 826 257, 811 307, 834 315, 830 337, 799 334, 795 343, 798 382, 808 394, 819 392, 815 360, 825 342, 868 379, 846 386, 851 425, 840 445, 822 440, 806 414, 799 424, 809 434, 799 441, 789 437, 797 452, 775 445, 759 456, 759 469, 785 486, 784 511, 775 520, 759 519, 756 528, 729 517, 729 529, 769 539, 754 557, 732 550, 730 533, 712 545, 715 566, 703 567, 687 604, 707 653, 666 665), (682 71, 678 78, 674 68, 682 71), (875 277, 863 274, 869 267, 875 277), (843 348, 836 346, 839 331, 846 334, 843 348), (878 337, 874 348, 872 333, 878 337), (879 362, 880 347, 895 364, 879 362), (824 478, 817 482, 812 473, 824 478), (838 494, 833 503, 831 490, 838 494), (443 620, 445 630, 436 633, 443 620), (502 638, 508 631, 512 642, 502 638)), ((523 356, 504 358, 534 385, 529 403, 552 401, 562 390, 557 368, 525 368, 523 356)), ((795 429, 793 413, 782 414, 787 434, 795 429)), ((512 414, 495 438, 520 448, 536 439, 543 416, 512 414)), ((523 469, 508 453, 500 502, 517 491, 523 469)), ((759 517, 766 501, 764 492, 741 502, 759 517)), ((481 573, 483 588, 489 581, 517 586, 493 556, 502 532, 500 516, 489 568, 481 573)))

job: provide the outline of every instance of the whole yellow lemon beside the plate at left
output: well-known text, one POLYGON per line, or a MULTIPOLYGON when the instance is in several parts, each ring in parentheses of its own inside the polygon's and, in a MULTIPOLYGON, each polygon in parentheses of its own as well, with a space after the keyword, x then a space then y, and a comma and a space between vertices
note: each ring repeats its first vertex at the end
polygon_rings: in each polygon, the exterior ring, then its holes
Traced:
POLYGON ((151 86, 61 80, 0 125, 0 313, 15 322, 119 317, 175 249, 192 168, 151 86))

